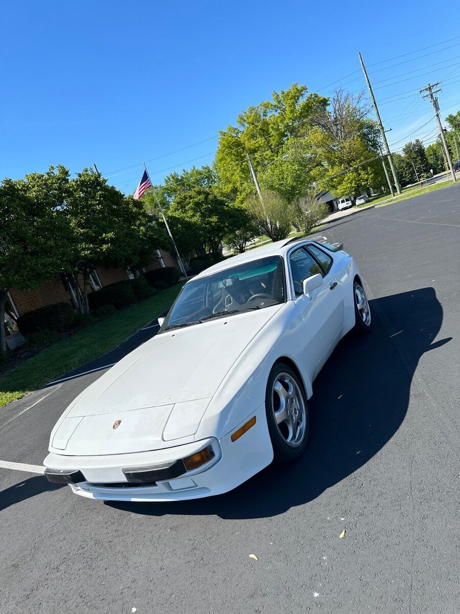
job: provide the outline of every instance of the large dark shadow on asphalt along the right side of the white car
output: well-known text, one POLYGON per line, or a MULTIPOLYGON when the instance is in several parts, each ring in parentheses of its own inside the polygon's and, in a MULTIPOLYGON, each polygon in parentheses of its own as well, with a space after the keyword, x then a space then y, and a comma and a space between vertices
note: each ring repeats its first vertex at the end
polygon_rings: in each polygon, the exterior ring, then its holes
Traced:
POLYGON ((450 341, 433 343, 443 312, 431 287, 377 298, 370 305, 370 333, 345 336, 315 380, 309 402, 310 442, 300 459, 272 464, 216 497, 106 505, 152 516, 265 518, 316 499, 356 472, 401 426, 420 357, 450 341))

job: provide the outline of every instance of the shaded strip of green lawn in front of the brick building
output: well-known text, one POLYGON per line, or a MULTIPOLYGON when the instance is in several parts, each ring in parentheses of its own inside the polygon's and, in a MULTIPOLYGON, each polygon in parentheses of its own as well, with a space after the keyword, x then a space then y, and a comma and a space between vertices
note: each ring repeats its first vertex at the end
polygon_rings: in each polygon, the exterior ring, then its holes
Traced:
POLYGON ((182 282, 175 284, 142 303, 83 328, 9 371, 0 379, 0 407, 116 348, 168 309, 182 286, 182 282))

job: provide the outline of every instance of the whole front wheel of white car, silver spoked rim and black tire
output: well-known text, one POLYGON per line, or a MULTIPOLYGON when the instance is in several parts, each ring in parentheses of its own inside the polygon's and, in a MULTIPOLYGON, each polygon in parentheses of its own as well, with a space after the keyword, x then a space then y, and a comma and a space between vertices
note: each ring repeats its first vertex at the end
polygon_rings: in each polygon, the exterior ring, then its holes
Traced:
POLYGON ((288 365, 270 371, 265 406, 275 461, 293 461, 307 447, 309 413, 302 381, 288 365))

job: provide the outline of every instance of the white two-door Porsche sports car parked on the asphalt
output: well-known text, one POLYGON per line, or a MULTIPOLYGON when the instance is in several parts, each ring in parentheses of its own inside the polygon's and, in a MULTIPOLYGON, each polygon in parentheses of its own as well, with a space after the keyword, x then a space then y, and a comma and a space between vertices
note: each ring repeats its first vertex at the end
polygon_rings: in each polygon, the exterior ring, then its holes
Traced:
POLYGON ((279 241, 191 279, 158 335, 64 411, 48 480, 93 499, 177 501, 300 456, 313 380, 345 333, 370 327, 341 247, 279 241))

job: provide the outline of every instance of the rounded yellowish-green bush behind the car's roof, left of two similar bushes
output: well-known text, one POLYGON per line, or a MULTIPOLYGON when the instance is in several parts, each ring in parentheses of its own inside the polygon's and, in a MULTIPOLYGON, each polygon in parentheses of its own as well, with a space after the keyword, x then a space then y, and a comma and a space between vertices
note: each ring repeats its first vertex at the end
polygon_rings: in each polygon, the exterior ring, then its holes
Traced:
POLYGON ((255 195, 248 196, 245 208, 253 217, 259 233, 272 241, 281 241, 291 232, 296 218, 296 206, 288 203, 277 192, 262 192, 263 203, 255 195))

